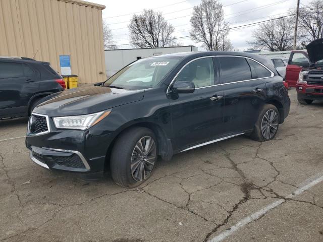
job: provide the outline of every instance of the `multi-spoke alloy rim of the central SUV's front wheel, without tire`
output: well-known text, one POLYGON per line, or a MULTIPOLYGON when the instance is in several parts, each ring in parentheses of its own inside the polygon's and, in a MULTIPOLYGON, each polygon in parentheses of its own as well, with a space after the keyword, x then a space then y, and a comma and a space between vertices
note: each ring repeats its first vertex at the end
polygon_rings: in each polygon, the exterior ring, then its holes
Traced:
POLYGON ((145 180, 153 169, 156 159, 156 144, 150 136, 137 142, 131 156, 130 170, 136 181, 145 180))

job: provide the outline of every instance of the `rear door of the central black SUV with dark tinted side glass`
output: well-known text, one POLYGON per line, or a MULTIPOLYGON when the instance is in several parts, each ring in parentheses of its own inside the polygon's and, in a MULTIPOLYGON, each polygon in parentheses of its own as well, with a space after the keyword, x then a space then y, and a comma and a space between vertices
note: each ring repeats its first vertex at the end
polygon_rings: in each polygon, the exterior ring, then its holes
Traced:
POLYGON ((227 135, 251 130, 265 99, 265 77, 271 72, 244 57, 217 57, 224 91, 224 127, 227 135), (231 73, 233 73, 231 75, 231 73))

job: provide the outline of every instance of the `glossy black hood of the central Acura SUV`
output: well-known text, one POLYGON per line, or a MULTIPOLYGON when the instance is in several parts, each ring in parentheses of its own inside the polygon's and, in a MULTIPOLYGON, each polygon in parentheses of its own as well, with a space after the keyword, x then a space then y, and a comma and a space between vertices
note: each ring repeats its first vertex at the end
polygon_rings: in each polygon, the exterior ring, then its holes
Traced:
POLYGON ((144 90, 96 86, 75 88, 43 98, 33 112, 50 117, 89 114, 140 101, 143 95, 144 90))

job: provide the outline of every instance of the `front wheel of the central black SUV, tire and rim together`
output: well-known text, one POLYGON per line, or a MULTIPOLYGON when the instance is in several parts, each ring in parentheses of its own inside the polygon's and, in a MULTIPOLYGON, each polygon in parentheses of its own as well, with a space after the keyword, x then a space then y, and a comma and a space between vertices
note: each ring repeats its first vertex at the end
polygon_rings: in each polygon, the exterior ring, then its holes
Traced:
POLYGON ((154 133, 143 127, 132 128, 117 139, 111 154, 112 178, 118 185, 134 188, 147 180, 157 160, 154 133))

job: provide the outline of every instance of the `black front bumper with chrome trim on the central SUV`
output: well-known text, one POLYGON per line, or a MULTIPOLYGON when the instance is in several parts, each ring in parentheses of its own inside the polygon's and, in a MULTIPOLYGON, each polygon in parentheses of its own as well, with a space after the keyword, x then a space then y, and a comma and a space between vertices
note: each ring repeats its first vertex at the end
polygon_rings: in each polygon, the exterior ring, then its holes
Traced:
POLYGON ((48 132, 27 132, 26 147, 33 162, 50 170, 103 173, 113 133, 101 131, 94 135, 89 130, 59 130, 50 117, 47 122, 48 132))

